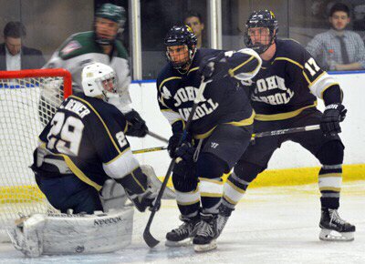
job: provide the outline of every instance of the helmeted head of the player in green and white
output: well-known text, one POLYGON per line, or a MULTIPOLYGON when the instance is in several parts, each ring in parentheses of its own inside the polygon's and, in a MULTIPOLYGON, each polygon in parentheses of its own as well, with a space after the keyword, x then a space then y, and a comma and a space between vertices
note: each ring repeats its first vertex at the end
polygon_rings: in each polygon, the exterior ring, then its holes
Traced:
MULTIPOLYGON (((95 33, 96 33, 96 42, 99 45, 111 45, 114 43, 117 35, 122 33, 123 25, 126 21, 126 12, 125 9, 119 5, 112 4, 104 4, 99 7, 97 12, 95 13, 95 33), (116 30, 112 36, 105 32, 105 29, 101 27, 105 27, 108 25, 99 25, 98 18, 108 19, 114 23, 116 23, 116 30), (100 28, 99 28, 100 27, 100 28)), ((105 23, 108 24, 108 23, 105 23)), ((109 25, 110 26, 110 25, 109 25)))

